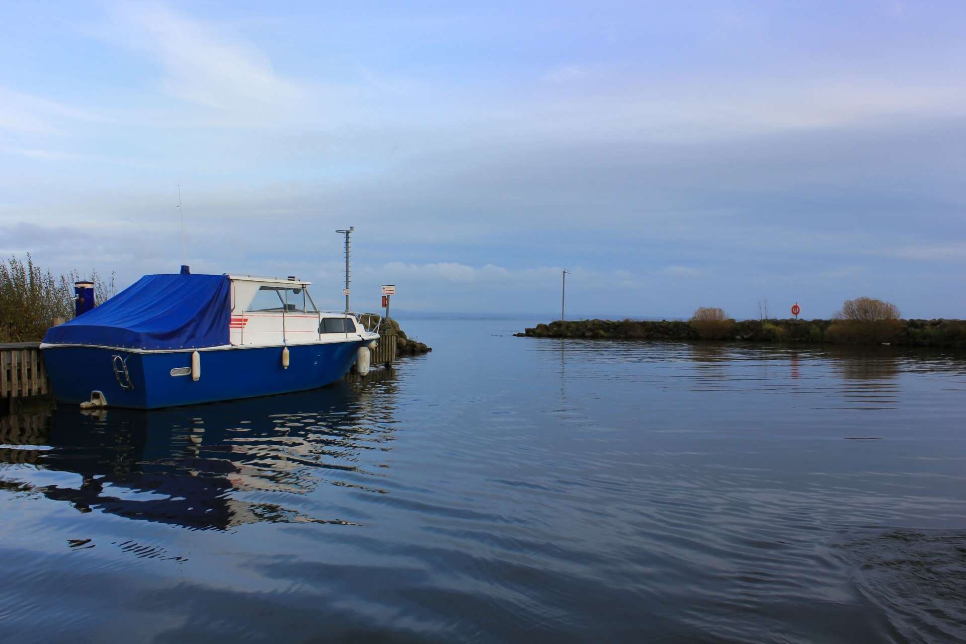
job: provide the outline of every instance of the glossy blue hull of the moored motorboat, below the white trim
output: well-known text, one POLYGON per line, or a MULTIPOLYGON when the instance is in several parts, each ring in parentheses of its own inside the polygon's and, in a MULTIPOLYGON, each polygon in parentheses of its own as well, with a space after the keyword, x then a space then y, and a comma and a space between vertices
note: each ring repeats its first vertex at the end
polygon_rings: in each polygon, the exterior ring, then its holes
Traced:
MULTIPOLYGON (((104 347, 52 346, 42 350, 54 397, 79 404, 100 391, 108 406, 155 409, 252 398, 322 387, 344 378, 363 340, 288 345, 289 366, 282 366, 283 347, 230 347, 200 350, 200 378, 190 374, 192 350, 127 351, 104 347), (120 356, 115 358, 114 356, 120 356), (123 387, 114 363, 124 360, 130 380, 123 387), (172 375, 175 373, 185 375, 172 375)), ((126 382, 127 383, 127 382, 126 382)))

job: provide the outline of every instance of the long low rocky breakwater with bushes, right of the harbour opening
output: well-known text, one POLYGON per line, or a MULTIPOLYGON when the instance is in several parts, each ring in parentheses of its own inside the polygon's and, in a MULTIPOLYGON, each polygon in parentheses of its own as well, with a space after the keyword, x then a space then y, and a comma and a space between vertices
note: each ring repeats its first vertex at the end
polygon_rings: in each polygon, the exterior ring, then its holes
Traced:
POLYGON ((537 324, 516 335, 592 340, 723 340, 966 349, 966 321, 962 320, 575 320, 537 324))

